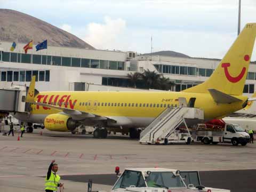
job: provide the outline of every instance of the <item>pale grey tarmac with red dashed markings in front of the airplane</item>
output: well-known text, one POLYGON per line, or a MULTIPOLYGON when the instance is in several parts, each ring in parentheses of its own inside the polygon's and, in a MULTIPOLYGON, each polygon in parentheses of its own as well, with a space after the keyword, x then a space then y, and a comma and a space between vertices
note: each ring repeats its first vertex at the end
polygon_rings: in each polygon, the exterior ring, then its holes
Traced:
POLYGON ((243 178, 243 173, 246 173, 256 177, 255 143, 247 146, 231 146, 228 143, 155 146, 140 145, 138 140, 121 134, 94 139, 87 134, 37 129, 33 133, 25 133, 20 141, 17 141, 17 133, 14 137, 0 134, 0 191, 5 192, 44 191, 44 177, 52 159, 59 164, 58 173, 65 183, 65 192, 86 191, 90 175, 92 178, 107 175, 101 179, 102 182, 93 183, 93 189, 109 191, 113 176, 111 180, 108 175, 114 173, 115 166, 119 166, 121 171, 127 167, 157 166, 202 173, 217 171, 214 173, 230 173, 243 178), (236 172, 220 172, 223 170, 236 172), (80 180, 73 179, 75 177, 80 180))

